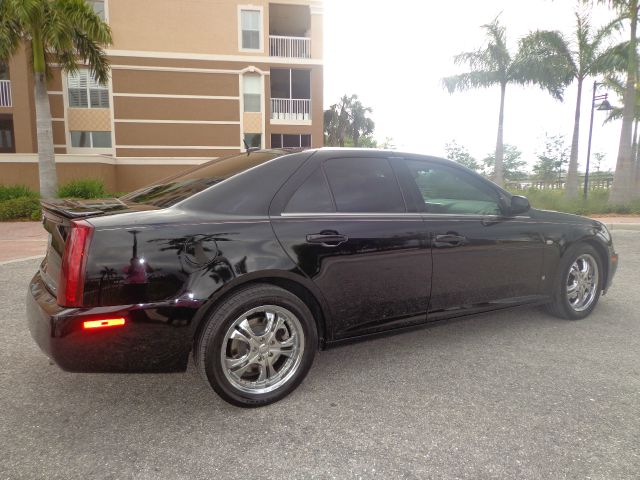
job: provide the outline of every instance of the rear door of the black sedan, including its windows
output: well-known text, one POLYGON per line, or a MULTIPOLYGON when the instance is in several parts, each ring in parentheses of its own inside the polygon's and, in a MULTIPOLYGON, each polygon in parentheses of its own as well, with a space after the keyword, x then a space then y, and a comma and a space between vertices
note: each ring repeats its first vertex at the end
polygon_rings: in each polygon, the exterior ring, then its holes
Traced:
POLYGON ((271 222, 324 295, 333 338, 424 322, 428 236, 421 215, 407 213, 389 159, 323 153, 274 199, 271 222))

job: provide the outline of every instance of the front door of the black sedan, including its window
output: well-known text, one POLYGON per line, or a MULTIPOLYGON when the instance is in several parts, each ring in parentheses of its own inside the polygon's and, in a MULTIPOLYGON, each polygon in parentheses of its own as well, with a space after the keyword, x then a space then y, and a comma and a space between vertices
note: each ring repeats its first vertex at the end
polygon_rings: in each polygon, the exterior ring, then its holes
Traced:
POLYGON ((505 216, 500 190, 446 161, 405 158, 433 256, 430 320, 541 299, 544 240, 528 216, 505 216))

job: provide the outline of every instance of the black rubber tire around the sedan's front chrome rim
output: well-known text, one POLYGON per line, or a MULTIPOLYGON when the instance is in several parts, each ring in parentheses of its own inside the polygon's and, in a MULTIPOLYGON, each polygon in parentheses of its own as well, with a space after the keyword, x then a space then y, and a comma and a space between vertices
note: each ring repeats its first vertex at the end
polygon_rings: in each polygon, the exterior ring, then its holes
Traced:
POLYGON ((600 294, 602 293, 602 286, 604 280, 604 270, 602 265, 602 258, 598 252, 591 245, 578 244, 570 248, 562 257, 560 261, 560 267, 558 268, 558 274, 553 284, 553 301, 548 305, 545 305, 545 309, 551 315, 558 318, 564 318, 567 320, 580 320, 591 314, 596 308, 600 294), (569 294, 567 292, 567 286, 569 284, 569 271, 572 265, 579 258, 592 258, 597 265, 597 287, 590 303, 582 310, 576 310, 569 301, 569 294))

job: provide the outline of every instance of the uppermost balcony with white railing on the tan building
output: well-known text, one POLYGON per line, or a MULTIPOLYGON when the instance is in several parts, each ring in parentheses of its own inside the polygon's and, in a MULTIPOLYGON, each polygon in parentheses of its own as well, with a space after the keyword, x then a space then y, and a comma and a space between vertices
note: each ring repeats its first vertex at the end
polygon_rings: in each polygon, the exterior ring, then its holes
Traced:
POLYGON ((269 4, 269 55, 311 58, 311 14, 308 5, 269 4))

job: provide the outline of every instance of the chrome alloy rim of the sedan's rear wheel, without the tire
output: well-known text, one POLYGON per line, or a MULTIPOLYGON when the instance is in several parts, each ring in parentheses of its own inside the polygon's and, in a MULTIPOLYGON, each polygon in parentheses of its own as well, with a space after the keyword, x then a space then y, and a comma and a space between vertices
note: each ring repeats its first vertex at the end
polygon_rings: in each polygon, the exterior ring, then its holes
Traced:
POLYGON ((300 320, 276 305, 252 308, 227 330, 222 368, 231 385, 245 393, 276 390, 293 377, 304 353, 300 320))

